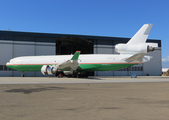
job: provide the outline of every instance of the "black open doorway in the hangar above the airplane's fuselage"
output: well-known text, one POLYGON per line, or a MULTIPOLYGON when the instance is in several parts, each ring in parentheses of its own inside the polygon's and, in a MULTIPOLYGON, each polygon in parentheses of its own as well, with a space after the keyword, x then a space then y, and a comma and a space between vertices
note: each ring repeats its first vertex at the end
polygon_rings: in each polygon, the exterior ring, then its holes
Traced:
POLYGON ((56 55, 70 55, 76 51, 81 51, 81 54, 93 54, 93 40, 79 37, 56 39, 56 55))

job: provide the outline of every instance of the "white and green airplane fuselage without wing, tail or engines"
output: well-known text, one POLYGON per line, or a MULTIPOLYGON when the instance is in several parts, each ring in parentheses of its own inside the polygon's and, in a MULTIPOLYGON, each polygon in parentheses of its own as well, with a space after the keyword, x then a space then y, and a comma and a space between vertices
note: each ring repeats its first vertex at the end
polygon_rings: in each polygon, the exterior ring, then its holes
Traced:
MULTIPOLYGON (((57 56, 27 56, 11 59, 7 67, 19 71, 40 71, 43 65, 58 65, 69 60, 73 55, 57 56)), ((109 55, 109 54, 81 54, 79 56, 79 67, 76 71, 111 71, 117 70, 142 62, 126 62, 123 58, 130 55, 109 55)), ((63 71, 65 71, 64 69, 63 71)))

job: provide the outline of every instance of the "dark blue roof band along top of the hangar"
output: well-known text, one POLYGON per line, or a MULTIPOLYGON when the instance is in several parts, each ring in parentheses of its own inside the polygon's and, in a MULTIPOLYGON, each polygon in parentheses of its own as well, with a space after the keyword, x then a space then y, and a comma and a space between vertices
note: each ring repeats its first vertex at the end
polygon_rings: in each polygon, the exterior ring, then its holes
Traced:
MULTIPOLYGON (((13 38, 12 36, 31 36, 31 37, 48 37, 48 38, 49 37, 50 38, 74 37, 74 38, 82 38, 82 39, 90 39, 90 40, 116 40, 116 41, 128 41, 130 39, 130 38, 122 38, 122 37, 109 37, 109 36, 92 36, 92 35, 74 35, 74 34, 38 33, 38 32, 20 32, 20 31, 0 30, 1 40, 9 40, 9 38, 12 39, 13 38), (2 37, 2 36, 6 36, 6 37, 2 37)), ((147 42, 158 43, 158 46, 161 47, 161 40, 148 39, 147 42)))

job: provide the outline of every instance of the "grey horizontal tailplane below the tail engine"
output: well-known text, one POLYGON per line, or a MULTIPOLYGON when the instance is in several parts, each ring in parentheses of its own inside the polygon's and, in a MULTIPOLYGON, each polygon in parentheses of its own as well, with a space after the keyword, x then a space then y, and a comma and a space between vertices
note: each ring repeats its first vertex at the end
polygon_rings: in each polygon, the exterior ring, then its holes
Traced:
POLYGON ((133 56, 127 58, 126 62, 142 62, 145 53, 134 54, 133 56))

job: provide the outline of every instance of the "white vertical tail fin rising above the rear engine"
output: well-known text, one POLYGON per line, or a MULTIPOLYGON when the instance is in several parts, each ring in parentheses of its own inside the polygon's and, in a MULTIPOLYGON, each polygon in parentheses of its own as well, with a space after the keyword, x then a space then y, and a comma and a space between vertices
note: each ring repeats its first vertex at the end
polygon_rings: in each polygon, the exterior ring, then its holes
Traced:
POLYGON ((145 43, 153 24, 144 24, 127 44, 145 43))

